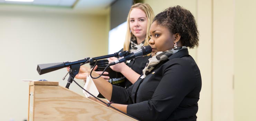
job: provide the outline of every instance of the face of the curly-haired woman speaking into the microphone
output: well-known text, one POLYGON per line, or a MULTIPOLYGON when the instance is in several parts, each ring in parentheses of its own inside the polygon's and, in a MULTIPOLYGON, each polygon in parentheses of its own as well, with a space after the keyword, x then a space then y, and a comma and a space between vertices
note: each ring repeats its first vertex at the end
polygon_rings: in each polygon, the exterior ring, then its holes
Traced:
POLYGON ((154 21, 150 27, 149 45, 152 48, 152 56, 159 51, 167 51, 173 48, 175 34, 172 34, 168 28, 159 26, 157 21, 154 21))

